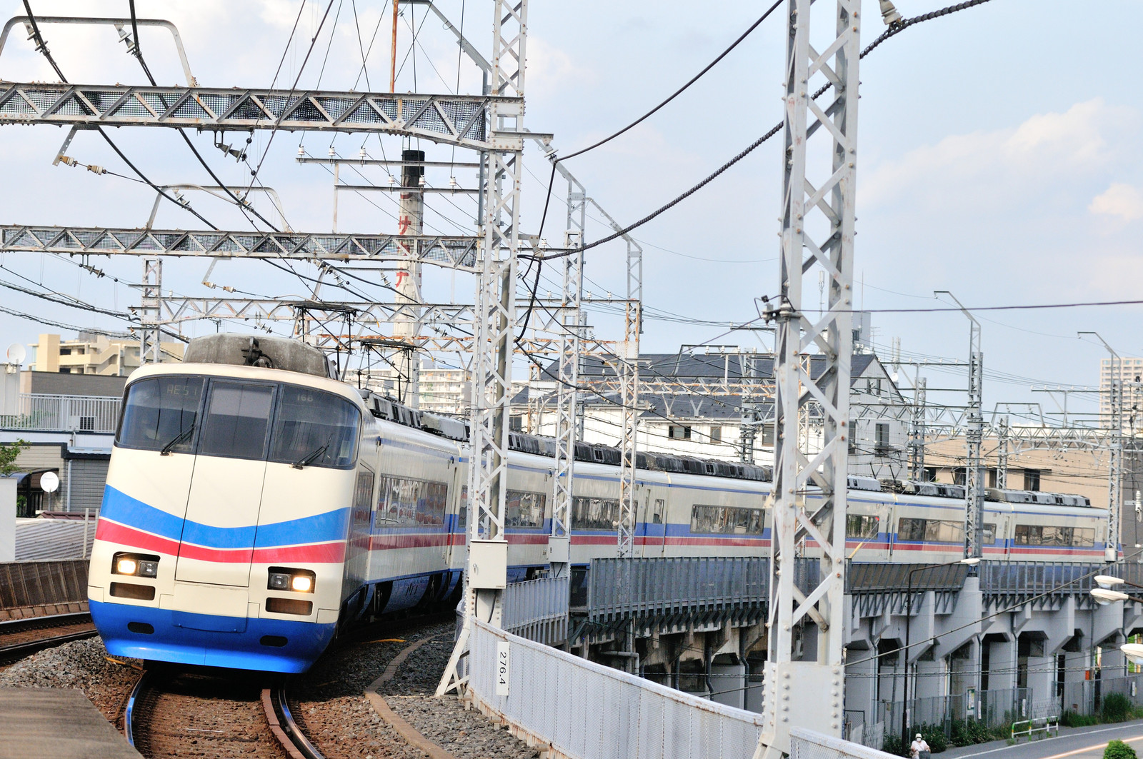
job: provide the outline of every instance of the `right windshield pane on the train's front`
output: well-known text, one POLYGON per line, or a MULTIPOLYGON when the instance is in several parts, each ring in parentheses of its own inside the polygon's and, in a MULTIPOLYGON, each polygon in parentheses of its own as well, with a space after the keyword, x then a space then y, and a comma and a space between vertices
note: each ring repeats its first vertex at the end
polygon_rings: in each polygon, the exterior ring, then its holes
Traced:
POLYGON ((333 393, 281 385, 270 436, 270 461, 298 466, 353 466, 357 407, 333 393))

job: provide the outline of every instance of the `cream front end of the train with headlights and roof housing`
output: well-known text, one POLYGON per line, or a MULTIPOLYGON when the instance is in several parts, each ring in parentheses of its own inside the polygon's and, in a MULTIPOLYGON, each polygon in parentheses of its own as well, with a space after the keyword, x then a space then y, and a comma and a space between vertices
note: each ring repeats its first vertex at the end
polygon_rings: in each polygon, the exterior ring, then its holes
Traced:
POLYGON ((117 656, 302 672, 353 590, 360 400, 291 341, 202 339, 127 385, 91 618, 117 656))

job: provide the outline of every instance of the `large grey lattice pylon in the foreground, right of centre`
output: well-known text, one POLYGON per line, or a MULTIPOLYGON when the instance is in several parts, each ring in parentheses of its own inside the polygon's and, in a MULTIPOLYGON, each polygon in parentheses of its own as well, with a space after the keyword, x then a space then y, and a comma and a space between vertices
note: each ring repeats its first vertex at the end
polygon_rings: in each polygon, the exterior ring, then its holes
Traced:
POLYGON ((767 303, 776 322, 774 511, 770 538, 768 661, 765 724, 757 756, 790 751, 790 728, 841 735, 845 637, 845 541, 849 440, 849 365, 853 352, 854 194, 857 170, 857 63, 861 2, 817 3, 818 42, 810 41, 812 0, 790 0, 782 151, 782 256, 778 297, 767 303), (826 17, 826 11, 830 16, 826 17), (813 87, 826 87, 823 107, 813 87), (810 142, 812 141, 812 142, 810 142), (813 151, 810 151, 813 145, 813 151), (829 283, 826 310, 810 321, 802 310, 812 270, 829 283), (808 349, 825 366, 810 376, 808 349), (799 445, 799 416, 816 404, 823 418, 821 452, 799 445), (814 509, 806 493, 820 488, 814 509), (796 584, 804 538, 817 542, 821 581, 796 584), (808 617, 808 620, 807 620, 808 617), (808 626, 816 628, 816 636, 808 626), (794 654, 802 633, 806 661, 794 654), (808 639, 808 640, 807 640, 808 639))

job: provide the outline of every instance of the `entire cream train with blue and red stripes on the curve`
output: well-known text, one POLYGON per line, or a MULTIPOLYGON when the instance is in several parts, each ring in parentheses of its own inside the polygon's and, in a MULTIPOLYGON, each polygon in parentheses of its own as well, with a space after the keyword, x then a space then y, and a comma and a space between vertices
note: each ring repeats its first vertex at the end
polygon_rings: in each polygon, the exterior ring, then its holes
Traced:
MULTIPOLYGON (((301 672, 339 625, 455 599, 466 437, 459 420, 333 378, 320 352, 293 341, 213 335, 183 363, 136 370, 89 569, 107 650, 301 672)), ((553 442, 511 442, 505 532, 510 578, 523 580, 546 567, 553 442)), ((615 554, 618 452, 577 444, 576 460, 572 561, 584 567, 615 554)), ((764 468, 657 454, 638 463, 639 556, 768 552, 764 468)), ((961 556, 954 486, 852 477, 850 488, 850 558, 961 556)), ((1102 510, 992 496, 986 558, 1102 559, 1102 510)))

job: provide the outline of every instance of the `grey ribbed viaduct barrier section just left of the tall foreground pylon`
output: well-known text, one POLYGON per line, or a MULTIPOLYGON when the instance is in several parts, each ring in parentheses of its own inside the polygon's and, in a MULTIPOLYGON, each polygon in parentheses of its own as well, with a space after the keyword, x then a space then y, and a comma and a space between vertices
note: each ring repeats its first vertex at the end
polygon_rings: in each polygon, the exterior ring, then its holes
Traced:
POLYGON ((769 559, 761 557, 592 559, 588 573, 588 616, 597 621, 761 607, 768 600, 769 559))

